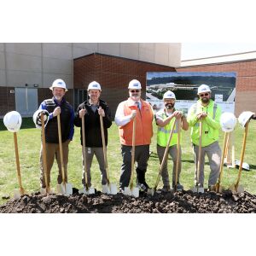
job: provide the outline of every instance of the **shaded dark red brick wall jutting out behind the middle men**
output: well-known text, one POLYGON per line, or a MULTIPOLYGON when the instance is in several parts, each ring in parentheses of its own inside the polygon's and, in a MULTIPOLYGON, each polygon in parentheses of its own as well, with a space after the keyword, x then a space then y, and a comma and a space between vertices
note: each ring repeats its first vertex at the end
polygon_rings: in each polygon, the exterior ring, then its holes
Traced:
POLYGON ((146 96, 147 72, 170 72, 174 67, 162 66, 145 61, 135 61, 111 55, 92 54, 73 61, 74 89, 86 89, 96 80, 102 85, 102 100, 108 102, 112 117, 119 102, 128 97, 128 84, 138 79, 143 87, 142 96, 146 96))

